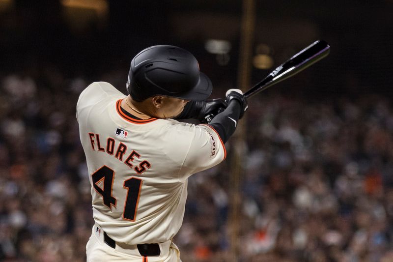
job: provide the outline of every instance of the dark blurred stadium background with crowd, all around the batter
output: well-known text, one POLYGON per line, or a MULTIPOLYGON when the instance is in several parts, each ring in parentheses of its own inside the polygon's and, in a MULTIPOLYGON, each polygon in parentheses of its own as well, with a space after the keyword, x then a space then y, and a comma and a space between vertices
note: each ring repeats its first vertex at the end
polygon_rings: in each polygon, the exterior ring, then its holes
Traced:
MULTIPOLYGON (((314 40, 331 54, 249 101, 236 248, 239 143, 190 178, 183 261, 393 261, 393 1, 254 4, 250 83, 314 40)), ((240 0, 0 0, 0 261, 85 260, 81 90, 125 92, 131 58, 172 44, 223 97, 238 83, 241 19, 240 0)))

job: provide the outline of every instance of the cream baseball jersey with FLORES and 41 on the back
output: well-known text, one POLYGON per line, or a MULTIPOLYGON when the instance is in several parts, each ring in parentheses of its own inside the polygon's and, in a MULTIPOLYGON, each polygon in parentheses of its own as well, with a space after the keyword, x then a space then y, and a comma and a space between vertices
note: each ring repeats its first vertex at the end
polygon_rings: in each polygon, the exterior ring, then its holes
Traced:
POLYGON ((187 178, 223 161, 225 146, 209 125, 133 118, 122 98, 95 82, 77 103, 93 217, 117 242, 160 243, 182 224, 187 178))

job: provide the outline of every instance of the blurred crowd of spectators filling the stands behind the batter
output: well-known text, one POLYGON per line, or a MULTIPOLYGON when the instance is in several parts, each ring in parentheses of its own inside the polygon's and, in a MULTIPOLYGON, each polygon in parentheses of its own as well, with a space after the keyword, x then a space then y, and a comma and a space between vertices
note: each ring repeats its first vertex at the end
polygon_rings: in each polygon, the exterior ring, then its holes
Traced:
MULTIPOLYGON (((94 81, 125 92, 125 76, 94 81)), ((0 261, 85 261, 93 219, 75 107, 90 82, 54 68, 0 75, 0 261)), ((393 261, 392 99, 269 93, 249 105, 240 262, 393 261)), ((233 261, 226 147, 189 178, 183 262, 233 261)))

